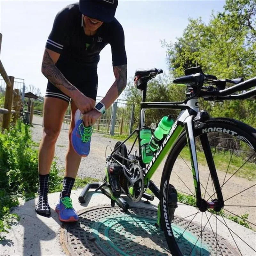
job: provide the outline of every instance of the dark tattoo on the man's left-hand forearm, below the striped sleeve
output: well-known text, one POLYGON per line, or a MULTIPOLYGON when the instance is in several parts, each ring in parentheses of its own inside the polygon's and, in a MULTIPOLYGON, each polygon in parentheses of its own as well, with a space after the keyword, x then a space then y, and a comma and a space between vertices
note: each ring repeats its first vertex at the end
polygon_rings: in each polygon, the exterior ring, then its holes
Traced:
POLYGON ((44 76, 54 84, 58 89, 61 90, 63 86, 69 91, 75 91, 76 88, 70 84, 65 76, 60 72, 60 70, 53 63, 49 53, 44 51, 44 58, 42 63, 42 73, 44 76))

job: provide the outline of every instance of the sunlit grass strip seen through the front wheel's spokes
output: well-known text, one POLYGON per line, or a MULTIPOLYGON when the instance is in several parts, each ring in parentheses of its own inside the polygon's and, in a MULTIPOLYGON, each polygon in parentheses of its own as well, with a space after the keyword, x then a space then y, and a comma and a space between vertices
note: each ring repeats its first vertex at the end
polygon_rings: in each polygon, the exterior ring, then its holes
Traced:
MULTIPOLYGON (((214 149, 212 149, 212 154, 214 154, 214 149)), ((182 149, 180 155, 185 160, 190 161, 189 149, 187 146, 182 149)), ((196 155, 197 155, 198 163, 206 166, 207 162, 204 156, 204 152, 197 150, 196 155)), ((233 155, 231 162, 229 164, 230 158, 231 158, 230 151, 216 152, 214 155, 214 163, 215 163, 216 169, 222 172, 226 172, 228 169, 228 173, 233 174, 238 170, 238 168, 240 168, 245 163, 245 160, 242 157, 233 155), (229 167, 228 167, 228 164, 229 164, 229 167)), ((256 178, 255 168, 256 166, 254 163, 247 162, 238 172, 236 172, 235 176, 245 178, 247 180, 255 180, 256 178)))

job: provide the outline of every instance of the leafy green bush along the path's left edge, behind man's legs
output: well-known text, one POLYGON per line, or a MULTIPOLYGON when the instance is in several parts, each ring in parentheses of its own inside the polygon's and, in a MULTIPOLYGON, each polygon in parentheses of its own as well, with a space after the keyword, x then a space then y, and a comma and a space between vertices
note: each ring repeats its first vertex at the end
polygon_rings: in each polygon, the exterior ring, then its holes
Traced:
MULTIPOLYGON (((18 215, 11 214, 10 209, 19 204, 18 196, 25 200, 35 197, 38 189, 38 150, 31 145, 29 126, 18 124, 9 131, 0 133, 0 232, 8 232, 18 215)), ((62 177, 52 164, 49 183, 50 192, 61 190, 62 177)), ((0 236, 0 240, 4 236, 0 236)))

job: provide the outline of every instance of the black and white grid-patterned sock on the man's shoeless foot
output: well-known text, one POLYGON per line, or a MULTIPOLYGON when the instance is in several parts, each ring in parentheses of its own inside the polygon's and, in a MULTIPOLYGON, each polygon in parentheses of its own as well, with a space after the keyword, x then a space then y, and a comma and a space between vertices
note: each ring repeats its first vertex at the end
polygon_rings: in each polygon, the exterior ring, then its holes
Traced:
POLYGON ((39 174, 39 198, 36 205, 36 213, 45 217, 51 215, 51 208, 48 204, 48 180, 49 174, 39 174))

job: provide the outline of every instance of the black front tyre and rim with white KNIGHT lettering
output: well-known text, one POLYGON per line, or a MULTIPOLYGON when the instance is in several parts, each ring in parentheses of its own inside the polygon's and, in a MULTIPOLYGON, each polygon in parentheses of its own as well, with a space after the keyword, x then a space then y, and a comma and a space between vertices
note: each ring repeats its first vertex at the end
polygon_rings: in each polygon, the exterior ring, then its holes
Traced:
MULTIPOLYGON (((203 128, 197 129, 194 131, 195 138, 200 136, 203 132, 204 133, 205 132, 208 133, 208 131, 212 132, 212 130, 214 130, 215 127, 219 127, 220 128, 218 129, 219 132, 222 131, 223 133, 223 131, 227 132, 228 130, 230 130, 233 133, 236 132, 236 136, 242 136, 239 138, 245 138, 245 140, 248 140, 246 143, 248 145, 250 144, 250 148, 252 148, 255 152, 256 131, 251 126, 244 124, 240 121, 229 119, 229 118, 209 118, 204 123, 205 123, 205 126, 203 128), (209 128, 212 128, 212 129, 209 129, 209 128)), ((242 141, 245 142, 245 140, 242 140, 242 141)), ((173 145, 172 150, 170 151, 166 159, 164 170, 162 173, 162 178, 161 178, 161 186, 160 186, 161 226, 163 228, 166 242, 169 246, 169 249, 172 255, 183 255, 183 254, 179 248, 179 245, 176 243, 176 239, 174 237, 173 230, 172 230, 172 224, 171 224, 172 220, 170 220, 169 212, 167 211, 167 214, 166 214, 166 211, 164 212, 164 203, 163 203, 164 194, 167 195, 167 199, 165 197, 166 201, 168 200, 168 191, 166 191, 166 189, 168 190, 168 185, 167 187, 165 185, 165 188, 164 188, 164 184, 166 183, 166 181, 167 181, 167 184, 169 183, 173 165, 175 164, 175 161, 178 158, 180 152, 186 145, 187 145, 187 138, 186 138, 185 132, 183 132, 178 138, 178 140, 176 141, 176 143, 173 145)), ((175 185, 175 184, 172 184, 172 185, 175 185)), ((165 209, 166 209, 166 206, 165 206, 165 209)), ((216 245, 216 248, 217 248, 217 245, 216 245)))

